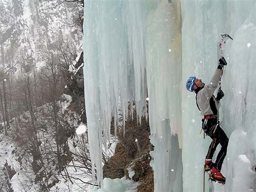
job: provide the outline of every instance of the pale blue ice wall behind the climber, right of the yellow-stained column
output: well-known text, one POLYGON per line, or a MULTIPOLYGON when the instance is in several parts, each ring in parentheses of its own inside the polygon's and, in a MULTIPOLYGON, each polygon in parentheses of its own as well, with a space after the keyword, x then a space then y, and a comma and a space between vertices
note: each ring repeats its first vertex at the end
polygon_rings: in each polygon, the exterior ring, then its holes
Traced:
MULTIPOLYGON (((229 33, 224 45, 228 66, 224 70, 221 127, 230 137, 223 175, 226 185, 206 182, 206 191, 255 190, 255 1, 182 1, 182 76, 191 75, 209 83, 217 67, 217 41, 229 33)), ((202 190, 202 169, 211 139, 199 135, 201 117, 195 95, 183 90, 183 190, 202 190), (193 183, 193 184, 192 184, 193 183)), ((218 149, 217 149, 218 151, 218 149)))

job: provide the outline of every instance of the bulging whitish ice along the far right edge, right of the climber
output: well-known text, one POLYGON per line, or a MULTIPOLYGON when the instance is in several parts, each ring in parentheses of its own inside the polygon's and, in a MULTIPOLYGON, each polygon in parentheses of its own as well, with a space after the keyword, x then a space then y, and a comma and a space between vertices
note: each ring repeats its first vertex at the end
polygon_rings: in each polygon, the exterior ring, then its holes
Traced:
MULTIPOLYGON (((230 48, 230 69, 227 70, 223 122, 229 129, 230 147, 227 155, 226 187, 229 191, 255 191, 256 175, 256 5, 255 1, 235 4, 233 15, 244 18, 233 27, 234 40, 230 48), (241 9, 242 8, 242 9, 241 9), (240 26, 240 22, 242 23, 240 26), (231 179, 233 178, 233 179, 231 179), (241 182, 242 178, 242 182, 241 182)), ((227 191, 227 190, 226 190, 227 191)))

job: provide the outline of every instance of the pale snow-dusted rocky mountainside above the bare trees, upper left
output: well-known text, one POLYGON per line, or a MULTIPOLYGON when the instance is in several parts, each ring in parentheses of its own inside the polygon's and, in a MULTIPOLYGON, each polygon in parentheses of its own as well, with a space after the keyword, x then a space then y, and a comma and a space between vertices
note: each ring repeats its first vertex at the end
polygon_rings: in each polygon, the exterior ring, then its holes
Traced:
POLYGON ((74 16, 77 4, 59 1, 3 0, 0 2, 1 70, 29 72, 45 62, 60 41, 81 47, 82 27, 74 16))

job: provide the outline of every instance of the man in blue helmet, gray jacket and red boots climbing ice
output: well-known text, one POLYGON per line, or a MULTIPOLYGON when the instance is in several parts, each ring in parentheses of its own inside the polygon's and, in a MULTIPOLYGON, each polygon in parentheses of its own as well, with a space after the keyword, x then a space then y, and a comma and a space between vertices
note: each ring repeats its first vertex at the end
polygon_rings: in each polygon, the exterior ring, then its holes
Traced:
POLYGON ((205 171, 211 171, 210 178, 221 183, 226 181, 226 178, 220 173, 220 170, 223 160, 226 157, 229 139, 220 127, 218 121, 218 103, 220 102, 220 99, 223 98, 224 93, 219 89, 217 97, 213 94, 218 87, 218 81, 220 80, 224 65, 227 65, 227 62, 224 57, 221 57, 218 60, 218 67, 211 78, 210 83, 207 85, 205 85, 201 79, 196 77, 189 77, 186 82, 186 89, 188 89, 189 92, 196 93, 196 105, 204 116, 202 119, 202 129, 207 136, 213 139, 205 158, 205 171), (214 163, 212 159, 218 144, 221 145, 221 149, 220 152, 218 152, 216 162, 214 163))

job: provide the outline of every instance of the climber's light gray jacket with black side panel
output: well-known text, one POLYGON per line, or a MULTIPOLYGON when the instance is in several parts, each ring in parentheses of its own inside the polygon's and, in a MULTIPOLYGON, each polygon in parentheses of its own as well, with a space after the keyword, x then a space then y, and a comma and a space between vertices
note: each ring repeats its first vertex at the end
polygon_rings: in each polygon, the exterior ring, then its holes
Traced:
POLYGON ((217 115, 218 101, 213 95, 218 87, 218 81, 221 77, 221 71, 217 69, 211 78, 210 84, 207 84, 196 94, 196 104, 198 105, 201 115, 217 115))

